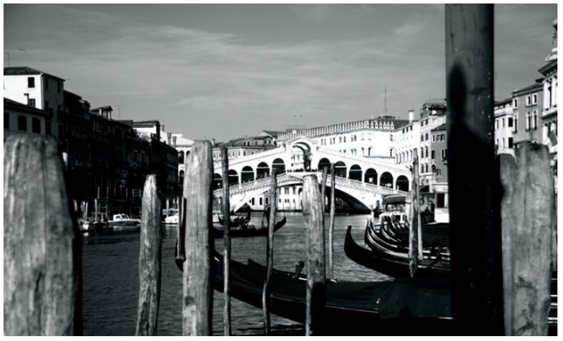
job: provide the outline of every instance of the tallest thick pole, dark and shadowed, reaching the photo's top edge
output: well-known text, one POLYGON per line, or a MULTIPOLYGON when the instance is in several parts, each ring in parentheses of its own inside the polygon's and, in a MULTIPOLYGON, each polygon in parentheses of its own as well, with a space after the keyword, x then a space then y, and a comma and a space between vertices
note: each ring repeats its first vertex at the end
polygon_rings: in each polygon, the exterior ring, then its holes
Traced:
POLYGON ((494 7, 449 4, 445 12, 452 313, 460 335, 502 335, 494 7))

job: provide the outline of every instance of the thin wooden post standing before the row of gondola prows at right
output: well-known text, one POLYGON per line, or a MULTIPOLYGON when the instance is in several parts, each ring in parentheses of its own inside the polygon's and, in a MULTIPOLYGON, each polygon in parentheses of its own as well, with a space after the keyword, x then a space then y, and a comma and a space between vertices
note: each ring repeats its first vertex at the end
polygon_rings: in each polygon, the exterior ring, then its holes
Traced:
MULTIPOLYGON (((418 151, 413 149, 413 184, 411 195, 407 200, 411 200, 411 212, 409 225, 409 270, 411 277, 415 276, 418 269, 418 261, 422 259, 422 241, 420 231, 420 201, 418 201, 418 151)), ((409 214, 410 215, 410 214, 409 214)))

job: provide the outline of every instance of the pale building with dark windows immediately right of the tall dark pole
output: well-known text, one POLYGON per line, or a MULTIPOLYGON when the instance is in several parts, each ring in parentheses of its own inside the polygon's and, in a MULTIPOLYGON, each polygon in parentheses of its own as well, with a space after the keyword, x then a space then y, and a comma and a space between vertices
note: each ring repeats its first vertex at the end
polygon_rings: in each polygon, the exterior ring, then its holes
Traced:
POLYGON ((514 148, 515 118, 512 98, 494 103, 494 145, 497 153, 514 148))

